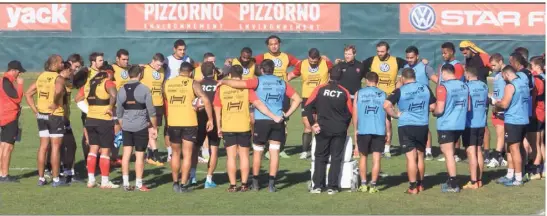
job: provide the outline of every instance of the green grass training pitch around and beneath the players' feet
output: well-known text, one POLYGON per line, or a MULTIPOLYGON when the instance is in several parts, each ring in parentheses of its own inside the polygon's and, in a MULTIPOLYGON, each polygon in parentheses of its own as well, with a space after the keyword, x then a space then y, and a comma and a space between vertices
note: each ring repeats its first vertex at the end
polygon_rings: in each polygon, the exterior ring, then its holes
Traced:
MULTIPOLYGON (((27 73, 25 90, 36 78, 37 73, 27 73)), ((300 81, 292 85, 300 89, 300 81)), ((0 184, 0 214, 537 214, 543 212, 545 204, 545 183, 531 181, 523 187, 506 188, 493 180, 505 174, 502 169, 486 169, 484 187, 458 194, 443 194, 440 183, 446 180, 444 162, 426 161, 426 190, 419 195, 407 195, 408 187, 404 156, 399 155, 398 137, 394 133, 394 156, 382 160, 382 171, 388 174, 378 182, 377 194, 341 192, 330 196, 309 194, 307 182, 310 179, 310 160, 299 160, 302 125, 297 111, 289 122, 289 138, 286 151, 292 156, 281 159, 278 174, 277 193, 260 192, 228 193, 228 177, 225 171, 225 151, 221 157, 214 180, 215 189, 203 189, 206 165, 198 165, 198 186, 192 193, 172 192, 170 167, 146 165, 145 184, 150 192, 124 192, 122 189, 88 189, 85 184, 73 184, 65 188, 36 186, 36 153, 39 145, 36 120, 32 111, 23 102, 20 119, 23 138, 15 144, 10 174, 21 179, 20 184, 0 184)), ((80 138, 82 124, 80 112, 72 106, 72 127, 78 143, 76 172, 86 177, 85 162, 82 161, 80 138), (83 174, 83 175, 82 175, 83 174)), ((432 119, 433 120, 433 119, 432 119)), ((439 154, 435 121, 431 121, 433 153, 439 154)), ((394 126, 396 121, 394 121, 394 126)), ((160 130, 161 131, 161 130, 160 130)), ((396 131, 396 130, 395 130, 396 131)), ((492 133, 494 130, 491 130, 492 133)), ((163 138, 160 138, 160 151, 163 138)), ((495 145, 495 139, 491 140, 495 145)), ((165 155, 165 153, 164 153, 165 155)), ((268 169, 263 161, 262 169, 268 169)), ((369 162, 370 164, 370 162, 369 162)), ((132 164, 133 165, 133 164, 132 164)), ((370 167, 370 165, 369 165, 370 167)), ((369 168, 370 170, 370 168, 369 168)), ((458 163, 460 184, 468 180, 467 164, 458 163)), ((113 169, 110 178, 121 183, 121 169, 113 169)), ((130 177, 134 184, 134 174, 130 177)), ((263 172, 261 182, 267 183, 263 172)), ((263 185, 265 186, 265 185, 263 185)))

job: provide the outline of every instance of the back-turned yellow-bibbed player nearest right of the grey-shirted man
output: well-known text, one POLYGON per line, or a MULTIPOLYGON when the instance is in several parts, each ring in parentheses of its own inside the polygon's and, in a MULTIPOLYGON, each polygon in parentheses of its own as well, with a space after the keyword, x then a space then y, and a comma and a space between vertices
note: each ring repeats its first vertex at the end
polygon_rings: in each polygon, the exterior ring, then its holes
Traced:
POLYGON ((183 62, 180 66, 179 76, 165 82, 163 94, 167 101, 167 133, 171 141, 173 154, 171 158, 171 174, 173 177, 173 190, 175 192, 190 192, 188 187, 188 178, 192 166, 192 154, 196 143, 198 132, 197 113, 192 105, 196 97, 203 102, 205 112, 207 113, 206 130, 211 131, 213 125, 213 111, 207 95, 201 90, 199 82, 194 82, 190 75, 193 66, 188 62, 183 62), (184 114, 185 118, 180 115, 184 114), (180 157, 183 157, 182 176, 179 181, 179 171, 181 170, 180 157))

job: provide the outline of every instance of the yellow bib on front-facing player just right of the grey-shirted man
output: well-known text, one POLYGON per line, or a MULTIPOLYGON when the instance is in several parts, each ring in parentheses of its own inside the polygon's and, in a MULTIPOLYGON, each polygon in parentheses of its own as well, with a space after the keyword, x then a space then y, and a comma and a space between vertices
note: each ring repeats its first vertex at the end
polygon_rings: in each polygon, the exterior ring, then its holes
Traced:
POLYGON ((150 65, 144 67, 141 83, 150 89, 154 106, 163 106, 163 95, 161 93, 163 91, 164 77, 163 68, 156 71, 150 65))

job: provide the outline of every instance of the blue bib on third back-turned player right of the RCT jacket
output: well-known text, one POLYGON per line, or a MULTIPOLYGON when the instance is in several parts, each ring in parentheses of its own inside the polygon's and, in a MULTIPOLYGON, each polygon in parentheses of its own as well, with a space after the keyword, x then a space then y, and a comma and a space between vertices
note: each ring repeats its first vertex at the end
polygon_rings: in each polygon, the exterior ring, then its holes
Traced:
POLYGON ((444 112, 437 119, 437 130, 463 130, 467 119, 469 88, 460 80, 446 80, 444 112))

